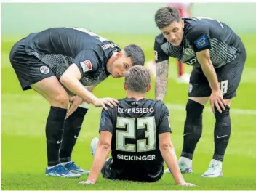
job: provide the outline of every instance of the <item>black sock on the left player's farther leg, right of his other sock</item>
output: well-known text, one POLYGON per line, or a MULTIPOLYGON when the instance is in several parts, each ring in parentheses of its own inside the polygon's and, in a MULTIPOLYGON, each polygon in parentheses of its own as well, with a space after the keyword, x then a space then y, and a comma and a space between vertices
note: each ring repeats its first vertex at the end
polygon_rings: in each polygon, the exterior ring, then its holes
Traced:
POLYGON ((86 108, 78 107, 64 123, 63 142, 60 148, 60 161, 62 163, 71 161, 71 153, 79 137, 81 124, 84 121, 84 115, 87 113, 86 108))

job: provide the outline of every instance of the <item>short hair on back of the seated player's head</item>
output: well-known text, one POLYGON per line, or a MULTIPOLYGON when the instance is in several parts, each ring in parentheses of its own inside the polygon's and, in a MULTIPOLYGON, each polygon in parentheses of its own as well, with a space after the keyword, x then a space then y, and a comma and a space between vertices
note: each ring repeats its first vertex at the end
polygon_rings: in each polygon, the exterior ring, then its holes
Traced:
POLYGON ((144 94, 147 92, 149 84, 151 84, 151 73, 142 65, 135 65, 129 68, 124 78, 127 89, 132 92, 144 94))

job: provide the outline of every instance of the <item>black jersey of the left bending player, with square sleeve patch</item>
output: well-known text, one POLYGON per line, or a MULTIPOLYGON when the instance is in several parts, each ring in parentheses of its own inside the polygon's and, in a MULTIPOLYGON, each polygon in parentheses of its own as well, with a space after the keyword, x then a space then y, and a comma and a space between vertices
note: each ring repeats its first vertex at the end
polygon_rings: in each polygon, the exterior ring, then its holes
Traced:
POLYGON ((75 63, 84 86, 99 84, 110 73, 106 63, 113 52, 121 49, 112 41, 84 28, 49 28, 33 33, 25 40, 25 51, 34 55, 60 78, 75 63))

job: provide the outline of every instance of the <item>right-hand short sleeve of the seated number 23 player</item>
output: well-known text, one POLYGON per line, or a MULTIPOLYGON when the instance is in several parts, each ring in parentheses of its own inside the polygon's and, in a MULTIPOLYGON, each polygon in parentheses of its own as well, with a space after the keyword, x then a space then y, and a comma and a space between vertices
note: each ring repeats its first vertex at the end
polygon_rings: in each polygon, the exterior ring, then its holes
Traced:
POLYGON ((159 131, 158 134, 172 132, 170 123, 169 123, 169 110, 167 109, 164 103, 161 105, 161 115, 160 115, 160 123, 159 123, 159 131))

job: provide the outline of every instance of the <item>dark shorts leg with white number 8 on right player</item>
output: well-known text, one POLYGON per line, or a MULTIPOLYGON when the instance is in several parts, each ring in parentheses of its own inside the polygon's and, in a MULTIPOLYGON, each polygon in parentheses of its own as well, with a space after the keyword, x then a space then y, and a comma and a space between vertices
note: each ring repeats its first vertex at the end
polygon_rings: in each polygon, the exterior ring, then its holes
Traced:
POLYGON ((215 69, 220 90, 223 92, 223 99, 232 99, 236 96, 236 90, 239 87, 244 70, 244 63, 245 55, 241 54, 236 60, 215 69))

